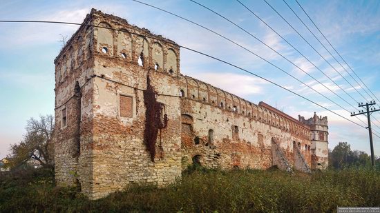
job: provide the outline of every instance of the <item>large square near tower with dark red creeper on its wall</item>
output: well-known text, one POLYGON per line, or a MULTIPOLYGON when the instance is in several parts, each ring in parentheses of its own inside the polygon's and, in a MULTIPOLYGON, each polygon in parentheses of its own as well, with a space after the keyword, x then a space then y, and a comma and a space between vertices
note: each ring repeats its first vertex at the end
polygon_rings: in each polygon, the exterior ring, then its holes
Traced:
POLYGON ((91 10, 55 59, 58 185, 97 199, 129 183, 165 185, 180 176, 179 49, 91 10))

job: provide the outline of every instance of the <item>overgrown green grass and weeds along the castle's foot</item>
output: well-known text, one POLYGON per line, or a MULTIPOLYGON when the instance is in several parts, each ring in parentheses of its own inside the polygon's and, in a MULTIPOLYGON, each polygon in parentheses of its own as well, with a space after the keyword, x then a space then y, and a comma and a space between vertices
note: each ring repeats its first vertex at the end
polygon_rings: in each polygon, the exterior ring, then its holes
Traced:
POLYGON ((0 212, 335 212, 337 206, 380 205, 380 171, 370 168, 292 176, 197 167, 169 187, 135 185, 97 201, 55 187, 49 171, 3 173, 0 212))

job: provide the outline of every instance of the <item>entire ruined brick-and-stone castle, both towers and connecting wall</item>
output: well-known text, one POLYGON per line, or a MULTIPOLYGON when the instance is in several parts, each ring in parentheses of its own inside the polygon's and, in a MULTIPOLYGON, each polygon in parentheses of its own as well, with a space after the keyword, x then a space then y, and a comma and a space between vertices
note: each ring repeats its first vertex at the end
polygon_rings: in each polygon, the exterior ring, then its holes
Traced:
POLYGON ((55 178, 91 199, 173 183, 192 163, 327 166, 327 117, 297 121, 184 76, 175 42, 113 15, 87 15, 55 59, 55 79, 55 178))

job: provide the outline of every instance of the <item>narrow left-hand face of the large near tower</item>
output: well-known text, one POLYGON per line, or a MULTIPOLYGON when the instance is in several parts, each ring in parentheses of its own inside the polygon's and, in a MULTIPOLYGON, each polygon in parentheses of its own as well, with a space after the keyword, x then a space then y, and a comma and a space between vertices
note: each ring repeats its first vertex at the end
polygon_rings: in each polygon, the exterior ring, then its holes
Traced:
POLYGON ((92 42, 92 28, 81 26, 55 59, 55 179, 85 193, 92 184, 92 42))

